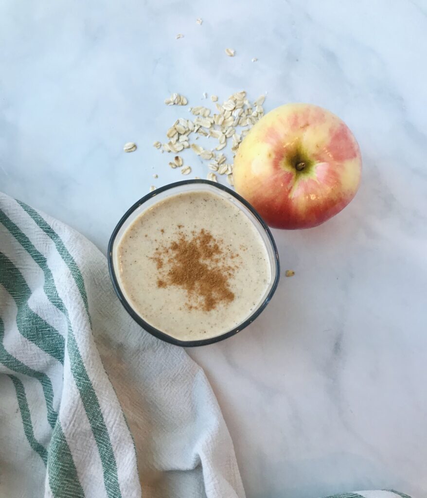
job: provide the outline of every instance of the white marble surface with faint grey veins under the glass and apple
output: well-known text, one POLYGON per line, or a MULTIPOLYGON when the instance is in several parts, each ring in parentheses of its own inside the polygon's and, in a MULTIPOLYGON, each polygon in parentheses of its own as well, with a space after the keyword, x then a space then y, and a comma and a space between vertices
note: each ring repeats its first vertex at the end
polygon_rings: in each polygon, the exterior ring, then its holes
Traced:
POLYGON ((357 197, 321 227, 276 231, 295 276, 251 327, 190 354, 249 498, 425 496, 427 4, 231 3, 3 0, 0 189, 105 252, 149 185, 181 179, 151 146, 185 114, 164 106, 171 92, 194 105, 267 91, 266 110, 306 101, 338 114, 363 153, 357 197), (139 149, 125 154, 129 140, 139 149))

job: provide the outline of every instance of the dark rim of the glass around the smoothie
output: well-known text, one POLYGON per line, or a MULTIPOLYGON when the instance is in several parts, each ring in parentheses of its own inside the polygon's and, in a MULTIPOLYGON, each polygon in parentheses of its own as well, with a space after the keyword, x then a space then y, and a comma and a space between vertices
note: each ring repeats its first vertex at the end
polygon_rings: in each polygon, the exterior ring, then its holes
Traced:
POLYGON ((264 309, 266 308, 267 304, 270 302, 271 298, 273 297, 273 294, 275 293, 278 283, 279 283, 279 278, 280 278, 280 262, 279 262, 279 253, 276 247, 276 243, 273 239, 273 235, 270 232, 269 227, 267 226, 266 222, 261 218, 261 216, 258 214, 258 212, 249 204, 248 201, 246 201, 243 197, 241 197, 239 194, 234 192, 233 190, 225 187, 224 185, 221 185, 220 183, 216 182, 211 182, 209 180, 184 180, 181 182, 175 182, 175 183, 169 183, 168 185, 164 185, 163 187, 159 187, 156 190, 153 190, 149 194, 145 195, 142 197, 139 201, 137 201, 132 207, 126 211, 126 213, 122 216, 120 219, 119 223, 117 224, 116 228, 113 230, 113 233, 111 234, 110 237, 110 242, 108 243, 108 268, 110 271, 110 276, 111 280, 113 282, 113 287, 114 290, 116 291, 117 296, 120 299, 120 302, 122 303, 123 307, 126 309, 126 311, 131 315, 131 317, 139 324, 141 327, 149 332, 151 335, 157 337, 158 339, 161 339, 162 341, 165 341, 170 344, 174 344, 175 346, 184 346, 184 347, 195 347, 195 346, 205 346, 207 344, 213 344, 219 341, 223 341, 224 339, 227 339, 228 337, 234 336, 241 330, 243 330, 245 327, 247 327, 249 324, 251 324, 260 314, 264 309), (123 294, 119 281, 116 277, 116 273, 114 271, 114 261, 113 261, 113 245, 116 240, 116 236, 119 233, 119 230, 122 228, 123 224, 125 221, 129 218, 129 216, 136 210, 138 209, 142 204, 144 204, 146 201, 151 199, 152 197, 155 197, 157 194, 164 192, 166 190, 179 187, 181 185, 188 185, 188 184, 208 184, 211 185, 212 187, 218 188, 220 190, 223 190, 224 192, 227 192, 227 194, 232 195, 235 197, 239 202, 241 202, 251 213, 253 216, 258 220, 262 228, 267 234, 267 237, 270 241, 270 244, 273 249, 274 253, 274 260, 275 260, 275 265, 276 265, 276 275, 275 279, 273 281, 273 285, 267 294, 267 296, 264 298, 263 302, 261 305, 250 315, 244 322, 242 322, 240 325, 235 327, 234 329, 225 332, 224 334, 221 334, 216 337, 211 337, 209 339, 200 339, 198 341, 180 341, 178 339, 175 339, 174 337, 171 337, 161 330, 156 329, 149 323, 145 322, 145 320, 142 319, 142 317, 133 309, 133 307, 130 305, 128 300, 126 299, 125 295, 123 294))

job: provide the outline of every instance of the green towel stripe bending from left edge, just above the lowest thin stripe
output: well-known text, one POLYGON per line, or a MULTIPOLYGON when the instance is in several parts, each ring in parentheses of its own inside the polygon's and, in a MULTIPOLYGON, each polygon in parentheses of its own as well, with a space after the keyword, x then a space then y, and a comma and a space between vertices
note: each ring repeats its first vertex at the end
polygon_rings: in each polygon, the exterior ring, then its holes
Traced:
POLYGON ((20 362, 14 356, 8 353, 4 349, 3 338, 4 324, 3 320, 0 317, 0 363, 2 363, 12 372, 22 373, 23 375, 27 375, 28 377, 36 378, 40 382, 43 389, 44 399, 46 401, 47 420, 49 422, 49 425, 53 428, 55 426, 56 419, 58 418, 58 414, 53 409, 53 388, 50 378, 43 372, 37 372, 36 370, 29 368, 27 365, 20 362))

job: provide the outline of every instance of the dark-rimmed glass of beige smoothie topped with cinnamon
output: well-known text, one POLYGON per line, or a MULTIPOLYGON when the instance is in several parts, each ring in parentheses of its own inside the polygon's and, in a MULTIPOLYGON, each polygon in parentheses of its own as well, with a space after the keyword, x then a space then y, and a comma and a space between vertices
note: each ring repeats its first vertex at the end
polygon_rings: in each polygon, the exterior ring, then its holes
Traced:
POLYGON ((267 225, 221 184, 187 180, 142 197, 108 247, 119 299, 144 330, 178 346, 202 346, 257 318, 279 282, 267 225))

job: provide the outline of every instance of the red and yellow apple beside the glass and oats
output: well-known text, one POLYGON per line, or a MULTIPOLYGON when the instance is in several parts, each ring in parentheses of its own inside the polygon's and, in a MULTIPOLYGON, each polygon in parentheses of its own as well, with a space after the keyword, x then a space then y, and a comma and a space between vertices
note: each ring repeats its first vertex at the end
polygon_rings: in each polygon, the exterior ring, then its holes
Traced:
POLYGON ((268 225, 300 229, 316 227, 345 208, 361 172, 359 145, 343 121, 312 104, 286 104, 247 134, 233 179, 236 191, 268 225))

